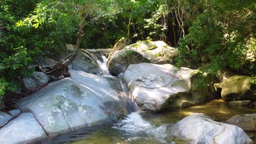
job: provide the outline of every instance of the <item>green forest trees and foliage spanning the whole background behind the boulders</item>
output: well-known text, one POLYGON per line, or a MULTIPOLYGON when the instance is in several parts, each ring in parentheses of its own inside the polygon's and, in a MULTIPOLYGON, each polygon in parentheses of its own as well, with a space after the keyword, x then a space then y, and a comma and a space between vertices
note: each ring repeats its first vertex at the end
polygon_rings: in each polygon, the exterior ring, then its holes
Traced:
POLYGON ((177 47, 177 67, 256 74, 252 0, 3 0, 0 5, 1 97, 18 89, 39 57, 64 51, 66 44, 112 48, 122 37, 177 47))

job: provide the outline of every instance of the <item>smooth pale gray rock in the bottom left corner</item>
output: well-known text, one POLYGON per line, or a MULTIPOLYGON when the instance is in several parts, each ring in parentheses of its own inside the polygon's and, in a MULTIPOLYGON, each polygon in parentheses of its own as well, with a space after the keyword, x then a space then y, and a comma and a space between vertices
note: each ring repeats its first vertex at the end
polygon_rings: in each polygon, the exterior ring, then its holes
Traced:
POLYGON ((21 113, 0 129, 0 143, 29 143, 46 137, 43 128, 32 113, 21 113))

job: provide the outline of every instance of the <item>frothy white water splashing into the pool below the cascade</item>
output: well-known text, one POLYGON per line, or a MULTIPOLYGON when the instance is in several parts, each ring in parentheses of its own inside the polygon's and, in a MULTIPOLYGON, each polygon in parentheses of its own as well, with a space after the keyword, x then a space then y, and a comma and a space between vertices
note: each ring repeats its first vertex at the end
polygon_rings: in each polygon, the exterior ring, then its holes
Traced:
POLYGON ((157 140, 161 143, 167 143, 167 125, 159 127, 146 121, 139 115, 139 112, 132 112, 125 119, 115 124, 114 129, 118 129, 125 136, 129 136, 130 140, 147 139, 157 140))

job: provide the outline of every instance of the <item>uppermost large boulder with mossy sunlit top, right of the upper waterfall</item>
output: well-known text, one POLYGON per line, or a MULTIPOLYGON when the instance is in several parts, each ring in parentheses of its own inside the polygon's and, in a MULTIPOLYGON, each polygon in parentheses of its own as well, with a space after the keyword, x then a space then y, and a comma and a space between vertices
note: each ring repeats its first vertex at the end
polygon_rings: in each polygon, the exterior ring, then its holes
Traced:
POLYGON ((177 54, 177 49, 168 46, 164 41, 139 41, 111 53, 107 67, 110 74, 119 75, 124 73, 129 64, 172 63, 177 54))

